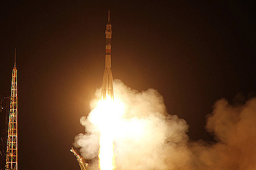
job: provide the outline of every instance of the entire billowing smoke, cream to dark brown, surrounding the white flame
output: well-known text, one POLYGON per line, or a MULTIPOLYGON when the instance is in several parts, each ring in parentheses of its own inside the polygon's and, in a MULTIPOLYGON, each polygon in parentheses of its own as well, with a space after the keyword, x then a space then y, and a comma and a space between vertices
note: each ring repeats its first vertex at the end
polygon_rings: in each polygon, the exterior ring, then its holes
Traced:
MULTIPOLYGON (((139 92, 114 81, 115 98, 125 104, 121 132, 115 139, 116 169, 256 169, 256 99, 245 105, 216 102, 206 129, 218 142, 188 142, 184 119, 166 112, 163 97, 155 89, 139 92)), ((92 109, 100 98, 96 91, 92 109)), ((74 145, 98 169, 99 132, 87 117, 80 123, 86 133, 74 145)))

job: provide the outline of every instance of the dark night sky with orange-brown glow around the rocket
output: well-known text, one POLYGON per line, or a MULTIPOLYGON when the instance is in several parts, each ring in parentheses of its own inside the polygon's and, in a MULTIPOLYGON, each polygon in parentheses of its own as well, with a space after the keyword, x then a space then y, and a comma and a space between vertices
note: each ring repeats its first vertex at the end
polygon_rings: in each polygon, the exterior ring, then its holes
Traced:
POLYGON ((251 2, 1 1, 1 93, 17 47, 19 169, 78 169, 69 149, 101 86, 108 9, 113 78, 157 89, 191 140, 213 140, 204 130, 212 105, 255 96, 251 2))

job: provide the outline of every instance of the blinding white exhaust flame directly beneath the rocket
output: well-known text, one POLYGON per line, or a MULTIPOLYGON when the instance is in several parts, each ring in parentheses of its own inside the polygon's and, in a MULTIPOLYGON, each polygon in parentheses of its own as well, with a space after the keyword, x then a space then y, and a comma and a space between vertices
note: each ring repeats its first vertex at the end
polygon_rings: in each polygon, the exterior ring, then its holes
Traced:
POLYGON ((99 138, 99 168, 101 170, 115 169, 114 140, 115 127, 124 113, 124 104, 118 99, 107 96, 98 102, 91 114, 91 122, 100 133, 99 138))

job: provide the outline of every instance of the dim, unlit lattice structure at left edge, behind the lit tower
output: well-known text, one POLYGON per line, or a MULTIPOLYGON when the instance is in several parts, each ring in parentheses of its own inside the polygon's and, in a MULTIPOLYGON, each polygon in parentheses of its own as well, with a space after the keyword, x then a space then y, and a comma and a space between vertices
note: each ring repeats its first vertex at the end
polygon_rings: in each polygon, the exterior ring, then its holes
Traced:
POLYGON ((1 94, 0 99, 0 169, 4 170, 6 165, 6 145, 8 120, 10 111, 10 95, 1 94))

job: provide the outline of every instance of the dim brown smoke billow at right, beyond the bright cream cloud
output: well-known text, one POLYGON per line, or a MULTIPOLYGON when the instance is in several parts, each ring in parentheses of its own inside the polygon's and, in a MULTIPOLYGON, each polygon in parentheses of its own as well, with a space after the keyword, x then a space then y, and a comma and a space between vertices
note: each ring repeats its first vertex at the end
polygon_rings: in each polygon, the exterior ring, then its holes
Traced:
POLYGON ((215 103, 206 130, 216 144, 193 144, 198 168, 256 169, 256 98, 232 106, 224 99, 215 103))

